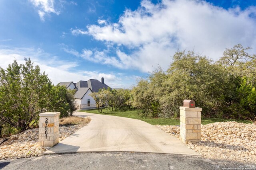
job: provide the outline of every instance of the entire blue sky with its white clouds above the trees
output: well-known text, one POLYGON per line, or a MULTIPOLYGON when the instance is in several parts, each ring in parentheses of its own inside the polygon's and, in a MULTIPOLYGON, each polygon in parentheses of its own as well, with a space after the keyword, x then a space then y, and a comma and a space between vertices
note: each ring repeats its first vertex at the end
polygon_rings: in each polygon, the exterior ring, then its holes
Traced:
POLYGON ((177 49, 256 53, 255 0, 1 0, 0 16, 0 66, 30 57, 54 84, 130 88, 177 49))

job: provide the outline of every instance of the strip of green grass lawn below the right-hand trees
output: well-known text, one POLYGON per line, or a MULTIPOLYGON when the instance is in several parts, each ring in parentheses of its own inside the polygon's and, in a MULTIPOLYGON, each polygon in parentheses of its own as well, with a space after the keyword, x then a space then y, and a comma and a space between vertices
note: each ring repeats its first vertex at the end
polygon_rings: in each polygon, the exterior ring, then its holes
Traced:
MULTIPOLYGON (((113 116, 120 116, 120 117, 128 117, 132 119, 139 119, 142 121, 146 121, 147 123, 150 123, 151 125, 180 125, 180 119, 175 118, 142 118, 138 115, 136 110, 127 110, 127 111, 110 111, 109 109, 106 110, 106 108, 102 109, 102 112, 98 113, 98 109, 92 109, 92 110, 81 110, 81 112, 88 112, 88 113, 96 113, 100 115, 113 115, 113 116)), ((219 122, 219 121, 237 121, 237 122, 243 122, 243 123, 252 123, 251 121, 247 120, 236 120, 236 119, 220 119, 220 118, 205 118, 202 119, 202 124, 206 125, 209 123, 219 122)))

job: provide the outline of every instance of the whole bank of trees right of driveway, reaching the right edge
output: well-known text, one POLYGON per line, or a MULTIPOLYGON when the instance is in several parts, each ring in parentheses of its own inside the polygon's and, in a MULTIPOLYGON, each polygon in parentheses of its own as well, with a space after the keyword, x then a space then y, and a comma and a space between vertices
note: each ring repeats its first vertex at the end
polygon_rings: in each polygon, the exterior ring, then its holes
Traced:
POLYGON ((204 117, 255 118, 256 55, 242 45, 226 49, 216 63, 194 51, 178 51, 164 72, 158 67, 132 89, 132 106, 144 117, 178 117, 184 99, 204 117))

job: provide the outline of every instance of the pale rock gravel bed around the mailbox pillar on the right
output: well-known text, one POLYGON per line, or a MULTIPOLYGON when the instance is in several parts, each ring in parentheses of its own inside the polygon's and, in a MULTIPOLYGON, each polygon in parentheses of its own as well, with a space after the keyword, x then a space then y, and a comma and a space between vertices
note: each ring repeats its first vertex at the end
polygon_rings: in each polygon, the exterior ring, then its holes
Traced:
MULTIPOLYGON (((155 125, 180 139, 180 127, 155 125)), ((187 146, 208 159, 256 162, 256 125, 235 121, 201 125, 201 141, 187 146)))

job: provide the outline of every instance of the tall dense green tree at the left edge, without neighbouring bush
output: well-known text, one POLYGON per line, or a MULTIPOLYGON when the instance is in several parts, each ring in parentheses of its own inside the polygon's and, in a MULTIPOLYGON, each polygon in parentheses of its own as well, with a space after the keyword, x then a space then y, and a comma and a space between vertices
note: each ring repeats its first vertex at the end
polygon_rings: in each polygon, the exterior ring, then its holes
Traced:
POLYGON ((0 119, 19 130, 26 130, 45 111, 51 81, 30 59, 18 65, 14 60, 4 70, 0 68, 0 119))

